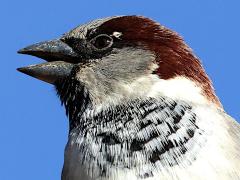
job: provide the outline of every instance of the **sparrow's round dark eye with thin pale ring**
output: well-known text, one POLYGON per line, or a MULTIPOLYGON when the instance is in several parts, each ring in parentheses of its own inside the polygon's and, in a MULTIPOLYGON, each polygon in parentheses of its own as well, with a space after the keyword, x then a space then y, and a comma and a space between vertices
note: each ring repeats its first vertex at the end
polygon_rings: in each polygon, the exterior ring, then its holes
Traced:
POLYGON ((106 34, 101 34, 91 39, 90 42, 96 49, 104 50, 112 46, 113 39, 106 34))

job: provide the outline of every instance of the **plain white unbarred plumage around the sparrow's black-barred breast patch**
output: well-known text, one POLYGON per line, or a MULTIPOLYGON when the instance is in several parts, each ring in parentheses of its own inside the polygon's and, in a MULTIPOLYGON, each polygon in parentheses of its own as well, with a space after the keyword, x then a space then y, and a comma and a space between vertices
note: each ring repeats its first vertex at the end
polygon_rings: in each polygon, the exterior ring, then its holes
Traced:
MULTIPOLYGON (((130 94, 142 94, 145 97, 171 97, 181 99, 192 105, 192 111, 197 115, 198 126, 206 133, 207 141, 191 164, 173 166, 164 171, 155 171, 154 176, 147 180, 238 180, 240 179, 240 128, 222 110, 201 95, 201 90, 186 78, 172 80, 157 80, 154 76, 141 78, 126 87, 130 94), (135 92, 135 93, 133 93, 135 92), (186 93, 187 92, 187 93, 186 93), (230 125, 229 125, 230 124, 230 125), (229 127, 234 132, 229 133, 229 127), (238 131, 238 132, 237 132, 238 131), (232 137, 233 134, 237 134, 232 137)), ((132 96, 131 95, 131 96, 132 96)), ((108 104, 108 103, 106 103, 108 104)), ((107 105, 102 105, 102 109, 107 105)), ((98 111, 99 111, 98 110, 98 111)), ((91 114, 87 113, 87 114, 91 114)), ((74 134, 74 133, 73 133, 74 134)), ((176 138, 176 137, 173 137, 176 138)), ((195 138, 196 139, 196 138, 195 138)), ((196 139, 197 141, 198 139, 196 139)), ((79 143, 79 142, 78 142, 79 143)), ((79 162, 79 149, 74 136, 70 137, 65 151, 65 173, 63 180, 90 180, 83 171, 85 167, 79 162), (71 154, 71 156, 69 156, 71 154)), ((161 167, 161 164, 159 164, 161 167)), ((145 167, 148 168, 148 167, 145 167)), ((164 167, 163 167, 164 169, 164 167)), ((137 180, 135 170, 116 170, 109 179, 101 180, 137 180)))

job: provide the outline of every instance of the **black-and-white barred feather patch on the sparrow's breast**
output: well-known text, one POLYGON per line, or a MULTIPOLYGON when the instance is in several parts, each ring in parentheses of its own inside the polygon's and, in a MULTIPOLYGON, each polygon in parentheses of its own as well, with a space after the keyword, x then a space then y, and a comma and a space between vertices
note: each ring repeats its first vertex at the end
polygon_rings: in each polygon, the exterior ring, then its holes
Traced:
POLYGON ((123 169, 151 177, 156 168, 192 163, 206 140, 193 107, 168 97, 87 109, 77 120, 81 124, 70 132, 69 148, 76 147, 71 152, 78 152, 78 162, 94 177, 123 169))

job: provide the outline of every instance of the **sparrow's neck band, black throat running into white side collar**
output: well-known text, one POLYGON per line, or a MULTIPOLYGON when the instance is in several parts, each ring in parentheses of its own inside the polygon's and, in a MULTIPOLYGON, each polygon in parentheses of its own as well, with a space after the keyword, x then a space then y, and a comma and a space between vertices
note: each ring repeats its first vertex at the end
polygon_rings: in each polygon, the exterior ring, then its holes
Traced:
MULTIPOLYGON (((97 89, 97 88, 94 88, 97 89)), ((66 114, 69 116, 70 131, 75 127, 83 125, 83 115, 86 112, 101 112, 109 107, 118 107, 118 105, 130 102, 136 99, 161 99, 169 98, 174 101, 184 101, 189 104, 213 104, 204 96, 201 86, 185 77, 175 77, 173 79, 159 79, 157 75, 149 75, 137 79, 131 84, 121 85, 121 91, 112 94, 101 94, 101 99, 91 97, 82 83, 74 78, 66 78, 56 83, 56 90, 65 105, 66 114), (98 103, 95 102, 97 100, 98 103)), ((90 95, 91 94, 91 95, 90 95)), ((217 106, 218 107, 218 106, 217 106)))

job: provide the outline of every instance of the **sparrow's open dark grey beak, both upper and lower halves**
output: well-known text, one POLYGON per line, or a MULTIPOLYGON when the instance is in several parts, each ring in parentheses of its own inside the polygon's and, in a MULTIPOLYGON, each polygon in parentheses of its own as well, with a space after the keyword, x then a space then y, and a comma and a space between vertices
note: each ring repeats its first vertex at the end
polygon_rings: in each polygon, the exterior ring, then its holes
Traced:
POLYGON ((78 54, 59 39, 28 46, 19 50, 18 53, 40 57, 48 61, 43 64, 21 67, 17 70, 51 84, 68 76, 74 63, 78 62, 78 54))

